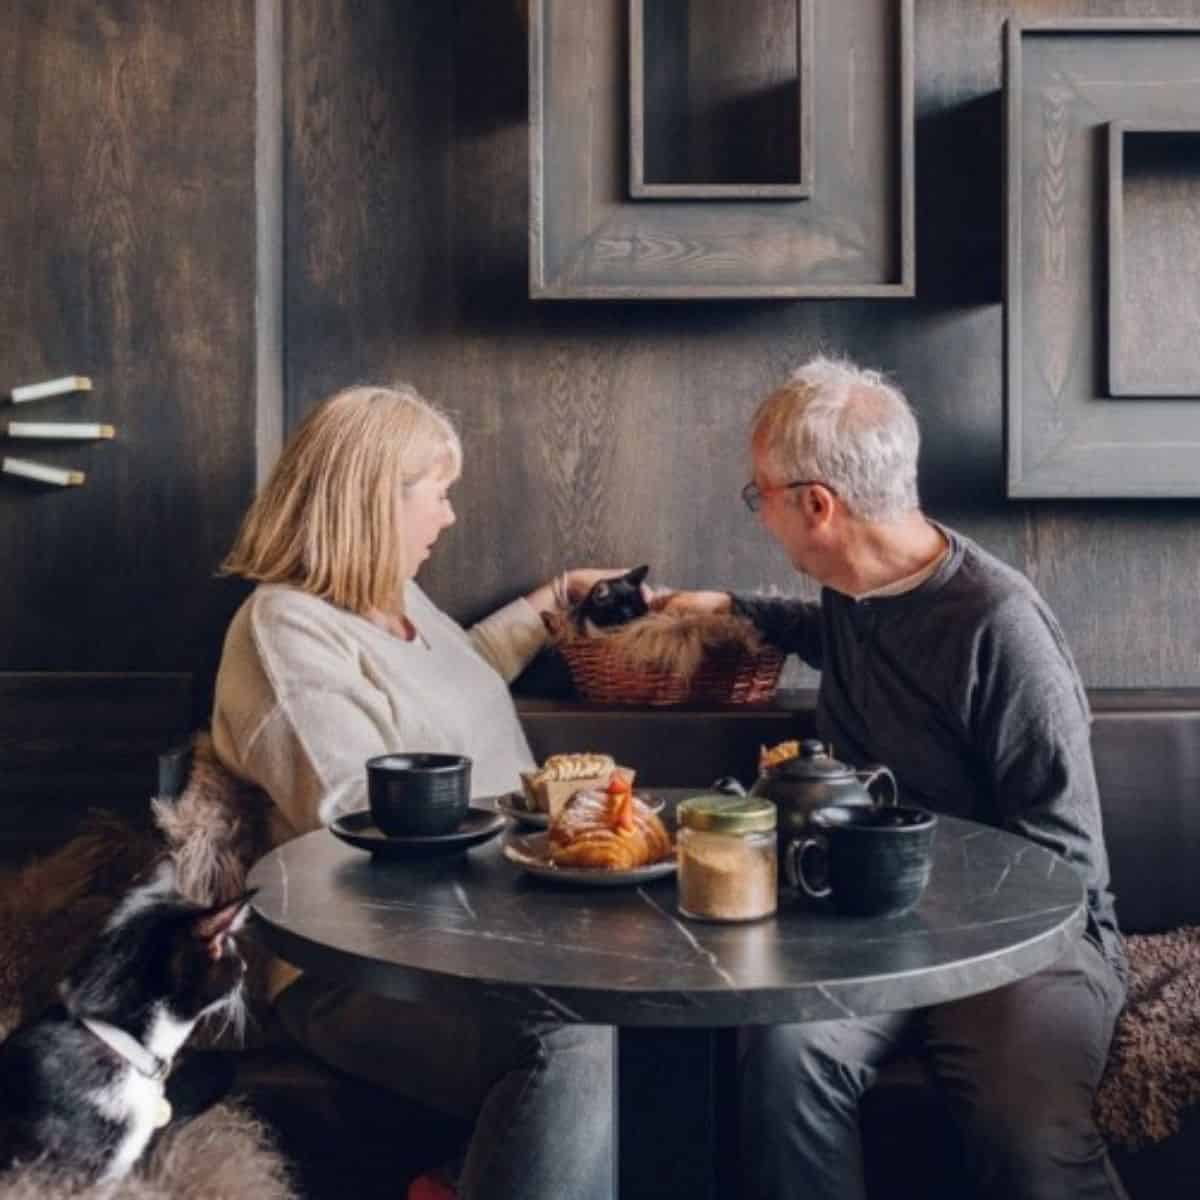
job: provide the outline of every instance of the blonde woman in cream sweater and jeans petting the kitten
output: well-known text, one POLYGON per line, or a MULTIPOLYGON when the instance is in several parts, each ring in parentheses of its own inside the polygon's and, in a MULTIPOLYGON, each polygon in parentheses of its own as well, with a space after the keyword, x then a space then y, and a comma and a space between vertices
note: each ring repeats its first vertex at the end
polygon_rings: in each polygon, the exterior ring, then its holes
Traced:
MULTIPOLYGON (((480 796, 533 766, 508 683, 544 644, 541 610, 612 572, 566 571, 463 630, 415 578, 455 521, 461 469, 452 425, 415 390, 352 388, 307 416, 246 515, 222 569, 257 588, 226 636, 212 742, 271 798, 275 844, 366 808, 372 755, 469 755, 480 796)), ((458 1178, 421 1177, 410 1195, 610 1194, 611 1030, 294 974, 276 1010, 332 1066, 475 1121, 458 1178)))

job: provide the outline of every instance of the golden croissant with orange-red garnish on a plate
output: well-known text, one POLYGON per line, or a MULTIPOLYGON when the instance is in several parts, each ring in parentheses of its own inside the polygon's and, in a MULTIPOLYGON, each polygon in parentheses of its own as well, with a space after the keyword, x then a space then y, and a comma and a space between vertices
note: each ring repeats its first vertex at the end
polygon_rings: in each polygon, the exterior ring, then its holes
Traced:
POLYGON ((550 827, 550 858, 558 866, 626 871, 674 853, 662 822, 632 793, 576 792, 550 827))

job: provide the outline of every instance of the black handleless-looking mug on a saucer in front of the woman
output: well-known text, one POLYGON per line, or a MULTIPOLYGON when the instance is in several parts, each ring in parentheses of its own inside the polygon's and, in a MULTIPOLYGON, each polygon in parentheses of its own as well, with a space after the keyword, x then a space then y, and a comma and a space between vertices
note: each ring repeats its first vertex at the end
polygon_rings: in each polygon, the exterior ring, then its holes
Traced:
POLYGON ((384 754, 367 760, 367 802, 390 838, 454 833, 470 808, 470 758, 461 754, 384 754))

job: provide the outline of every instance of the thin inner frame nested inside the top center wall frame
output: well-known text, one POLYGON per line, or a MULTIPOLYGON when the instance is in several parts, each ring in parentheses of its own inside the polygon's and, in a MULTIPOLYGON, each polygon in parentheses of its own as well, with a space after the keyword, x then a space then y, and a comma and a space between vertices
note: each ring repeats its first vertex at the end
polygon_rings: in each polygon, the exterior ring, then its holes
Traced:
POLYGON ((812 194, 812 0, 796 4, 797 163, 794 182, 646 181, 646 5, 629 0, 629 192, 653 199, 808 199, 812 194))

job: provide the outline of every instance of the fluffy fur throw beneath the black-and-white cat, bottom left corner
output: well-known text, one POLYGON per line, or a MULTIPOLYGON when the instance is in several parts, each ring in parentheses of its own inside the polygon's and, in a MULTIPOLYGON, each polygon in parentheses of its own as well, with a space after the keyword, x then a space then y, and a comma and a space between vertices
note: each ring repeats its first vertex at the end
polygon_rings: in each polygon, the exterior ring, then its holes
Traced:
POLYGON ((296 1200, 263 1124, 218 1104, 172 1126, 118 1186, 84 1186, 28 1168, 0 1175, 0 1200, 296 1200))

